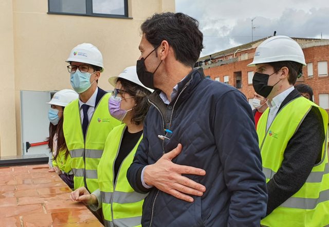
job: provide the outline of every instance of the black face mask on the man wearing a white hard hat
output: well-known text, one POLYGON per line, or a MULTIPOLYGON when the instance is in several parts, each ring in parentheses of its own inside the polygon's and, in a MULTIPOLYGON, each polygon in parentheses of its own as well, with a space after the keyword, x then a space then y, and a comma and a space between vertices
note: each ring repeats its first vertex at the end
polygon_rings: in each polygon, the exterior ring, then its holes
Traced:
POLYGON ((276 72, 273 72, 272 74, 265 74, 265 73, 259 73, 259 72, 255 72, 255 74, 253 74, 253 78, 252 78, 252 86, 253 89, 255 90, 256 93, 260 94, 261 96, 263 96, 264 98, 267 98, 268 95, 271 93, 273 87, 279 83, 281 80, 279 80, 275 85, 273 86, 269 86, 267 85, 268 83, 268 78, 273 75, 276 72))

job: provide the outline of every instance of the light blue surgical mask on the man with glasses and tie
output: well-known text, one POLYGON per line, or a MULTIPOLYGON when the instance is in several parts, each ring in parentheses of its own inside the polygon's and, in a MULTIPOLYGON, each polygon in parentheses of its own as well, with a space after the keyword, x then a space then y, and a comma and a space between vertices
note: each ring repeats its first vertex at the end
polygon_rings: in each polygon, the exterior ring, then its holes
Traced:
MULTIPOLYGON (((92 74, 94 74, 95 72, 93 72, 92 74)), ((70 81, 73 89, 79 94, 88 90, 88 88, 91 87, 92 84, 95 82, 94 81, 93 83, 90 84, 90 76, 92 74, 88 72, 80 72, 80 70, 71 73, 70 81)))

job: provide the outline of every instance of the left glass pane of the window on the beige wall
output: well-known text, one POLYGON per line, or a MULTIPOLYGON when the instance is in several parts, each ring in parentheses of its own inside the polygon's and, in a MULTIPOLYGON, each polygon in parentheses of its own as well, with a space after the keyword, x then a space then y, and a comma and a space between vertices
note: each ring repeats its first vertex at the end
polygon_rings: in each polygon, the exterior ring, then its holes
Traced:
POLYGON ((86 13, 86 0, 49 0, 50 12, 86 13))

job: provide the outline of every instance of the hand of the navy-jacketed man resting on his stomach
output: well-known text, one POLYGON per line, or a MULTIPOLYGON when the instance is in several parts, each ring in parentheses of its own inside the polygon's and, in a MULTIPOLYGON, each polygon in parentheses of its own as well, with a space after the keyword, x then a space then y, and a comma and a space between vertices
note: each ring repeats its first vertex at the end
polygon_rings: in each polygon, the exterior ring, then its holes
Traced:
POLYGON ((204 176, 206 171, 192 166, 173 163, 172 159, 180 154, 181 149, 181 144, 178 144, 175 149, 163 155, 156 163, 145 167, 143 179, 146 184, 155 186, 162 192, 181 200, 193 202, 193 198, 189 195, 203 196, 206 187, 181 175, 204 176))

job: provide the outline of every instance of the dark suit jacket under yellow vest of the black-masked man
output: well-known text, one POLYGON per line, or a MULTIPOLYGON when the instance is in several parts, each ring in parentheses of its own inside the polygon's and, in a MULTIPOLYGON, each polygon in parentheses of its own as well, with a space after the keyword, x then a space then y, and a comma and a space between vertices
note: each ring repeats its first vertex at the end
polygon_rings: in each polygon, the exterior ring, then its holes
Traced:
MULTIPOLYGON (((291 91, 282 102, 279 111, 288 102, 298 97, 300 93, 296 89, 291 91)), ((289 140, 279 171, 267 182, 266 215, 269 215, 303 186, 313 166, 321 160, 324 137, 320 110, 312 107, 295 135, 289 140)))

